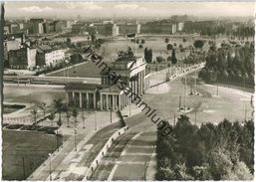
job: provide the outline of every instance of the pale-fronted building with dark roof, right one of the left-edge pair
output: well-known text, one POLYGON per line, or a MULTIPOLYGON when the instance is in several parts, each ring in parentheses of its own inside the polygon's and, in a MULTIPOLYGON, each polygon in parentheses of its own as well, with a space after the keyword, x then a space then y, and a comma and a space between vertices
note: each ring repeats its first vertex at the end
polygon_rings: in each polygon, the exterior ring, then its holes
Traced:
POLYGON ((63 49, 54 49, 48 45, 36 45, 37 66, 55 66, 65 61, 65 51, 63 49))

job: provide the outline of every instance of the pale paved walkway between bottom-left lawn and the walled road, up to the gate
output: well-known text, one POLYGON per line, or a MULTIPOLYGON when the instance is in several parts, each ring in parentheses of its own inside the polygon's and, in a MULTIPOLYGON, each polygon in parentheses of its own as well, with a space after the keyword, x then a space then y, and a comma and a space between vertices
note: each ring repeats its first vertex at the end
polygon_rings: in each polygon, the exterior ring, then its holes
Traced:
MULTIPOLYGON (((134 115, 140 110, 136 105, 130 104, 126 109, 122 111, 123 115, 134 115), (130 111, 129 111, 130 110, 130 111)), ((92 156, 97 154, 98 150, 102 149, 102 145, 105 144, 105 140, 108 140, 112 132, 115 132, 115 127, 106 127, 111 124, 111 112, 110 111, 98 111, 98 112, 85 112, 85 126, 83 128, 83 121, 81 112, 78 115, 77 123, 77 151, 75 151, 75 136, 74 136, 74 118, 70 117, 70 127, 67 127, 67 118, 65 114, 62 114, 62 119, 65 120, 60 127, 60 133, 70 136, 66 140, 63 146, 60 147, 60 151, 55 151, 51 155, 51 171, 53 180, 80 180, 83 179, 88 167, 92 161, 92 156), (98 135, 94 135, 101 128, 105 127, 98 135), (94 136, 92 138, 92 136, 94 136), (90 158, 91 156, 91 158, 90 158)), ((117 112, 112 113, 112 123, 118 122, 120 119, 117 112)), ((54 125, 59 119, 59 114, 54 119, 54 125)), ((40 125, 51 125, 50 120, 45 120, 40 125)), ((28 178, 28 180, 50 180, 50 159, 48 158, 34 173, 28 178)))

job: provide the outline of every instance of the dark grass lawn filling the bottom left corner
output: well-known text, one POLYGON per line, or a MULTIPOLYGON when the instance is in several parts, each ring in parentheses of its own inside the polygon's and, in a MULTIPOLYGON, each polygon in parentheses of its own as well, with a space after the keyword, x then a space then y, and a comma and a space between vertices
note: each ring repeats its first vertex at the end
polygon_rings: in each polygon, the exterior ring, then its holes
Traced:
POLYGON ((3 130, 3 180, 27 178, 57 148, 55 135, 37 131, 3 130))

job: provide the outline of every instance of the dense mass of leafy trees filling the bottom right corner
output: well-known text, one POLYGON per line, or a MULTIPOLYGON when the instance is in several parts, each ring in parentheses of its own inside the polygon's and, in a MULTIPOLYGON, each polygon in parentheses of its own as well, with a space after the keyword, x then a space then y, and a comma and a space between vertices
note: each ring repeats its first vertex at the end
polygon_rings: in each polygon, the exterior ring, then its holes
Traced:
POLYGON ((156 141, 156 180, 251 180, 254 122, 191 124, 181 115, 168 136, 156 141))

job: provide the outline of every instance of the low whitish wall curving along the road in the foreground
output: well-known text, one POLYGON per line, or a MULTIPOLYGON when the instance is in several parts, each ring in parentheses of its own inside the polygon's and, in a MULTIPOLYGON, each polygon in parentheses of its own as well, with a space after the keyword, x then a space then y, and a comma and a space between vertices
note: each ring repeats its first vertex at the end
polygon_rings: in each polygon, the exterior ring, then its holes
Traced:
POLYGON ((125 133, 128 130, 128 126, 122 127, 121 129, 119 129, 118 131, 116 131, 110 138, 109 140, 106 142, 106 144, 104 145, 103 149, 99 152, 99 154, 97 155, 97 157, 94 159, 94 161, 91 163, 91 165, 89 166, 89 168, 87 169, 86 175, 83 179, 83 181, 87 181, 91 175, 93 174, 93 172, 96 170, 98 164, 101 162, 101 160, 103 159, 103 157, 105 156, 105 154, 108 152, 108 150, 110 149, 110 147, 112 146, 113 142, 123 133, 125 133))

